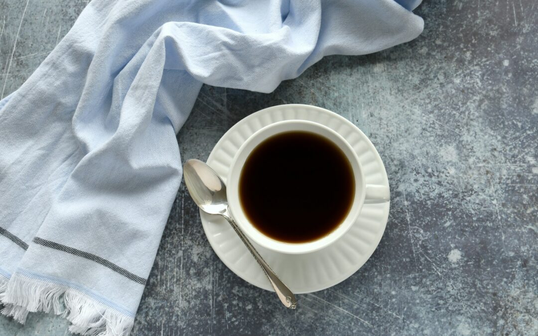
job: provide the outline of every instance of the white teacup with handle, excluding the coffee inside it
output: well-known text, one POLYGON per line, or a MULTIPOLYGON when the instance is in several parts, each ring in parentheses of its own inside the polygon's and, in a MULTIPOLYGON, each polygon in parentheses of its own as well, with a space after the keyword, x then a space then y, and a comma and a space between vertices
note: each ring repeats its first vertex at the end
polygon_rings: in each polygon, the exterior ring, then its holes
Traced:
POLYGON ((333 242, 342 237, 343 234, 348 232, 353 223, 355 223, 366 199, 369 201, 369 203, 387 202, 390 197, 388 187, 384 185, 365 183, 363 169, 360 166, 357 153, 340 134, 331 130, 327 126, 307 120, 280 121, 278 123, 261 128, 256 133, 252 134, 251 137, 249 137, 244 144, 239 147, 236 155, 234 156, 228 173, 226 185, 226 196, 228 197, 228 204, 232 216, 235 218, 237 224, 247 235, 247 237, 263 247, 272 249, 276 252, 288 254, 310 253, 331 245, 333 242), (275 134, 290 131, 312 132, 330 140, 332 143, 338 146, 338 148, 340 148, 348 158, 353 170, 353 176, 355 178, 355 195, 351 209, 348 212, 348 216, 346 216, 342 223, 329 234, 317 240, 301 243, 290 243, 275 240, 260 232, 246 217, 239 200, 239 179, 245 161, 249 157, 250 153, 265 139, 272 137, 275 134))

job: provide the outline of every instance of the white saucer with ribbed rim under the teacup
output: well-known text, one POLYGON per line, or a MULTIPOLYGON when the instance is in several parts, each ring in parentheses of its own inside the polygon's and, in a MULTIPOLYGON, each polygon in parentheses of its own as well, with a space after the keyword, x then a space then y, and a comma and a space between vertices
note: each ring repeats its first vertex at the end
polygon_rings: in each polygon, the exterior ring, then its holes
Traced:
MULTIPOLYGON (((368 184, 388 186, 387 173, 372 142, 336 113, 310 105, 272 106, 239 121, 217 142, 207 163, 226 180, 228 168, 243 142, 260 128, 282 120, 310 120, 332 128, 349 141, 359 157, 368 184)), ((355 273, 370 258, 385 231, 390 204, 364 204, 356 223, 334 244, 309 254, 281 254, 256 245, 264 260, 295 294, 329 288, 355 273)), ((273 291, 258 263, 221 216, 200 211, 209 244, 233 273, 273 291)))

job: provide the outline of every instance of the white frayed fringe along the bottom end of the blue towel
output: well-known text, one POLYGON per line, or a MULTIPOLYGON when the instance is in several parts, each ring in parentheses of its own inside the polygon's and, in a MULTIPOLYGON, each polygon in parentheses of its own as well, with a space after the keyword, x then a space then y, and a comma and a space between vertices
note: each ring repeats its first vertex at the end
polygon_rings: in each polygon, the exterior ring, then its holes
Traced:
POLYGON ((5 305, 2 314, 20 323, 28 312, 54 312, 72 323, 70 332, 82 335, 127 336, 134 321, 78 290, 20 274, 9 281, 0 276, 0 301, 5 305))

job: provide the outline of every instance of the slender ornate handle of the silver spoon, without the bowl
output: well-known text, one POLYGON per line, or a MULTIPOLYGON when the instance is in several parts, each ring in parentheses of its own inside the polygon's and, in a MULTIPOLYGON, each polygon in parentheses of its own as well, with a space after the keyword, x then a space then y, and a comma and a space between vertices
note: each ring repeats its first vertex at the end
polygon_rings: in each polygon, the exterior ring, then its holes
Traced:
POLYGON ((237 226, 237 223, 233 218, 230 216, 230 213, 227 211, 222 215, 230 225, 233 227, 233 230, 237 233, 239 238, 243 241, 246 248, 249 249, 250 253, 256 259, 258 264, 260 265, 261 269, 263 269, 265 276, 267 276, 267 279, 271 284, 273 285, 274 291, 277 292, 278 298, 289 309, 295 309, 297 308, 297 299, 295 298, 295 295, 293 295, 293 292, 289 290, 289 288, 280 280, 278 275, 274 273, 274 271, 269 267, 269 265, 265 262, 263 258, 261 258, 261 255, 256 251, 256 248, 251 244, 250 240, 246 238, 246 235, 241 231, 239 226, 237 226))

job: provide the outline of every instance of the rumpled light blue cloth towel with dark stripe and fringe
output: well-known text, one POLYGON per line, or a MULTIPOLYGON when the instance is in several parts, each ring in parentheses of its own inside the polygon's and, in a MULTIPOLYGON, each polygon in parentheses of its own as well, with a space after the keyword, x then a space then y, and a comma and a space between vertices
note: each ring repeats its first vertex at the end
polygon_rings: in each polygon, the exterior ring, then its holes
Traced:
POLYGON ((271 92, 325 55, 412 40, 419 2, 92 1, 0 102, 3 313, 128 334, 202 83, 271 92))

